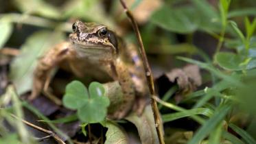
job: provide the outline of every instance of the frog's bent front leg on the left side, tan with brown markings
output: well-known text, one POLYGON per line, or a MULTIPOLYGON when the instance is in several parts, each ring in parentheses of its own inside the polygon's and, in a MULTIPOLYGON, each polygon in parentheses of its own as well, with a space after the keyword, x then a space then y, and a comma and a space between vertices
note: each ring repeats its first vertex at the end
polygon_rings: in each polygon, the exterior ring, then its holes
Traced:
POLYGON ((63 60, 71 58, 74 54, 75 51, 71 49, 71 44, 68 42, 60 43, 49 49, 49 51, 38 60, 34 71, 32 93, 28 99, 32 100, 36 98, 42 90, 49 96, 50 94, 47 92, 47 88, 51 80, 51 70, 63 60))

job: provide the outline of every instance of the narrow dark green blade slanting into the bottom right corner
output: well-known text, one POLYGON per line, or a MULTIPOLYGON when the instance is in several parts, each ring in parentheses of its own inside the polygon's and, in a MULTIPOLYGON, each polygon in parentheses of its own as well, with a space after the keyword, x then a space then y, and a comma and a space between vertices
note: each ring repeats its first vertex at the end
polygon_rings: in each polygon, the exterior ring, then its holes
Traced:
POLYGON ((246 143, 256 143, 255 139, 253 139, 253 137, 250 134, 248 134, 248 132, 246 132, 242 128, 239 128, 237 125, 229 123, 229 127, 232 128, 232 130, 235 131, 237 134, 242 136, 242 139, 244 139, 246 143))

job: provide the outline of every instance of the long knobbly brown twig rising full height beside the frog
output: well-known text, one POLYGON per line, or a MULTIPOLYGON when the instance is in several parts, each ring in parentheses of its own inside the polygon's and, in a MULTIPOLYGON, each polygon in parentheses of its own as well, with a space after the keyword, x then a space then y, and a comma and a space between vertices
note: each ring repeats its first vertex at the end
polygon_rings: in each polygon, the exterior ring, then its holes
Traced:
POLYGON ((139 43, 139 53, 141 54, 141 58, 143 61, 143 67, 144 70, 146 72, 146 77, 147 77, 147 81, 148 81, 148 87, 150 89, 150 98, 151 98, 151 106, 152 106, 152 111, 154 113, 154 123, 156 126, 156 132, 157 132, 157 136, 159 138, 159 143, 160 144, 164 144, 164 139, 163 139, 163 128, 161 127, 161 118, 160 118, 160 114, 159 114, 159 110, 157 108, 157 104, 155 99, 153 98, 154 95, 156 95, 155 91, 154 91, 154 81, 153 81, 153 76, 152 76, 152 72, 150 69, 150 64, 148 64, 148 58, 146 56, 146 52, 143 46, 143 42, 141 39, 141 34, 139 33, 139 27, 137 25, 137 22, 135 21, 135 18, 132 16, 132 12, 130 12, 126 6, 126 3, 124 3, 123 0, 120 0, 121 5, 124 8, 124 11, 126 12, 128 18, 130 19, 131 23, 132 23, 132 27, 135 30, 135 34, 137 36, 137 40, 139 43))

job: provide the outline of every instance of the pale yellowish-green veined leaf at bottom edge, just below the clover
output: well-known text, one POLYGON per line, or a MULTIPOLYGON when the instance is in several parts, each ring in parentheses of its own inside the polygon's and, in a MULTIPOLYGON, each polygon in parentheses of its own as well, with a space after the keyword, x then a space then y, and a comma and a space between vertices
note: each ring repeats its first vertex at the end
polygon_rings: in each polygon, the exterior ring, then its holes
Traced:
POLYGON ((106 141, 104 144, 128 144, 126 131, 123 130, 117 123, 107 121, 106 141))

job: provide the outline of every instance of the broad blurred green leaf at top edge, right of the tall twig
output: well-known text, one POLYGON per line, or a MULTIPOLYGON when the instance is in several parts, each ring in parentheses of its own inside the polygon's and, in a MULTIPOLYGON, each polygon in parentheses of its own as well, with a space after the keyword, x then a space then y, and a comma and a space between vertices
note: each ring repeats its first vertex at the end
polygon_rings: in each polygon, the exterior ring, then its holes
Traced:
POLYGON ((170 8, 164 5, 154 12, 151 21, 172 32, 187 34, 196 30, 218 32, 218 15, 206 1, 193 0, 193 5, 170 8))

